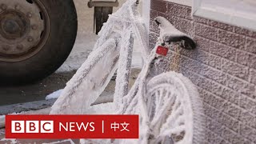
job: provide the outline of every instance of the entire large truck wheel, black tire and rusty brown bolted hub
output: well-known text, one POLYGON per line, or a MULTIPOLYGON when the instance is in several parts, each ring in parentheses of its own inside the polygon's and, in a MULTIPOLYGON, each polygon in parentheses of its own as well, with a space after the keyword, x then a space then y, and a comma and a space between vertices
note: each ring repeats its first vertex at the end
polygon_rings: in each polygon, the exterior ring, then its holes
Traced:
POLYGON ((0 83, 54 73, 69 56, 77 29, 73 0, 0 0, 0 83))

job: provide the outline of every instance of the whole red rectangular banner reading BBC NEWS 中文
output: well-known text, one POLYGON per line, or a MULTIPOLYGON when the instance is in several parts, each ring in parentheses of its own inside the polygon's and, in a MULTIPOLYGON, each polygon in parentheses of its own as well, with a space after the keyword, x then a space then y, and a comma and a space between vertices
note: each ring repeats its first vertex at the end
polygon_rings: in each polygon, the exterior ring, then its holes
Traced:
POLYGON ((138 138, 138 115, 7 115, 6 138, 138 138))

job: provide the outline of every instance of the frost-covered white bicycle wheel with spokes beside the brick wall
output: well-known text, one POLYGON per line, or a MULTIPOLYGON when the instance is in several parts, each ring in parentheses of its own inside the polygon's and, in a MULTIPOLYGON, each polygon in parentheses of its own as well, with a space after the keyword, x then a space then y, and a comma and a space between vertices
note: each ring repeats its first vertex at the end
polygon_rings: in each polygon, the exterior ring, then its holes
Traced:
POLYGON ((198 91, 182 74, 168 72, 147 84, 150 118, 149 143, 201 143, 204 140, 202 102, 198 91))

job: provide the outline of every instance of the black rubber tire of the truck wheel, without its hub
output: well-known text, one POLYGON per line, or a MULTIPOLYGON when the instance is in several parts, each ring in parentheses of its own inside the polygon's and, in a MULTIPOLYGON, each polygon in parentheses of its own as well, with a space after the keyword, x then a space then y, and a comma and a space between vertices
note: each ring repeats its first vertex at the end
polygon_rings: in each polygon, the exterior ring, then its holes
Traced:
POLYGON ((34 0, 45 6, 50 33, 42 49, 20 62, 0 61, 0 83, 35 82, 54 73, 72 50, 78 29, 73 0, 34 0))

